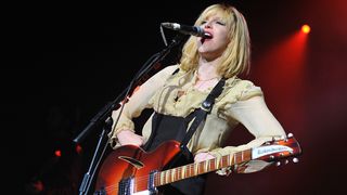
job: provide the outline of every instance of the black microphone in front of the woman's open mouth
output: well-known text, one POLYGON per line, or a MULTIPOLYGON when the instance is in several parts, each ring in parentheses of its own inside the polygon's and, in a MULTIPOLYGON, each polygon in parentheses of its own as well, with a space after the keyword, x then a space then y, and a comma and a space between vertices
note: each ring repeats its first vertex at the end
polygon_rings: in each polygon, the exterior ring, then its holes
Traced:
POLYGON ((185 35, 192 35, 192 36, 203 37, 203 38, 211 38, 211 35, 206 32, 200 26, 188 26, 188 25, 180 25, 177 23, 162 23, 162 26, 164 26, 165 28, 177 30, 185 35))

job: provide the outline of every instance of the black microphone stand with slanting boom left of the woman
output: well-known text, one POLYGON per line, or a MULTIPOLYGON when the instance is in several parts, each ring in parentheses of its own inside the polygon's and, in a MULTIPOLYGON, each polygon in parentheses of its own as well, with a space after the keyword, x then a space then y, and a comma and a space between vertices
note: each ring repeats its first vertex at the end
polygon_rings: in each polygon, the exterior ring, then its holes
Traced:
MULTIPOLYGON (((111 129, 113 127, 113 119, 112 119, 112 112, 114 109, 119 108, 119 103, 124 101, 130 91, 132 91, 133 87, 136 86, 134 83, 138 83, 143 76, 145 76, 150 70, 153 69, 153 67, 160 61, 165 58, 167 54, 169 54, 170 50, 179 44, 182 39, 183 35, 177 35, 172 40, 171 43, 168 44, 166 48, 164 48, 160 52, 152 55, 146 63, 141 67, 141 69, 138 72, 138 74, 134 76, 134 78, 131 80, 130 84, 113 101, 108 102, 89 122, 89 125, 74 139, 75 143, 81 143, 83 139, 91 132, 91 130, 95 129, 98 125, 103 125, 102 132, 100 134, 98 145, 95 147, 92 160, 90 162, 88 171, 85 173, 83 180, 80 184, 79 187, 79 194, 80 195, 87 195, 90 185, 93 181, 93 177, 95 173, 95 170, 98 168, 98 165, 100 164, 103 154, 105 153, 106 146, 107 146, 107 134, 111 132, 111 129), (101 146, 103 147, 101 148, 101 146)), ((126 104, 126 102, 123 103, 121 108, 126 104)), ((121 109, 123 110, 123 109, 121 109)), ((115 121, 115 125, 118 122, 120 113, 118 115, 117 120, 115 121)))

